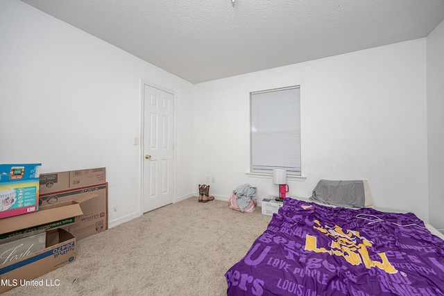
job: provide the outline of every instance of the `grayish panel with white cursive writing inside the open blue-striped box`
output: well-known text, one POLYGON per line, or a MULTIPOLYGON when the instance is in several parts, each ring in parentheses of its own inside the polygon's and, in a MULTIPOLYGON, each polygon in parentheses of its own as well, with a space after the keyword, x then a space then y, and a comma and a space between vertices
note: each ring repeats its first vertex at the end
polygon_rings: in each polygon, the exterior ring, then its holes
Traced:
POLYGON ((5 263, 43 250, 45 247, 46 232, 44 229, 3 238, 0 240, 0 267, 5 263))

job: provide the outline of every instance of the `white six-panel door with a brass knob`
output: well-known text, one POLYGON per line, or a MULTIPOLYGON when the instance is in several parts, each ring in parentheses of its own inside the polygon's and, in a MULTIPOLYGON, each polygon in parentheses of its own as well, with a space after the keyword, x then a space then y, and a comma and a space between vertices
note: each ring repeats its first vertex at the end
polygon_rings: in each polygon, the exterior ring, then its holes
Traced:
POLYGON ((143 85, 144 213, 174 201, 174 96, 143 85))

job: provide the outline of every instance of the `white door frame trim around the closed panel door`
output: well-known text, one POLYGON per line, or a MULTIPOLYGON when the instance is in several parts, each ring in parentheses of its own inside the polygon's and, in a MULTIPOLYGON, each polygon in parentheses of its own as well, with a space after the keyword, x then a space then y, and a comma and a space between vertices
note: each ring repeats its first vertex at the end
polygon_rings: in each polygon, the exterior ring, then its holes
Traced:
POLYGON ((167 92, 169 94, 173 95, 173 103, 174 103, 174 110, 173 110, 173 184, 174 184, 174 192, 173 192, 173 203, 176 202, 177 194, 176 194, 176 129, 177 129, 177 120, 176 120, 176 92, 171 91, 170 89, 167 89, 165 87, 162 87, 160 85, 156 85, 152 82, 148 82, 146 80, 141 79, 140 80, 140 134, 139 134, 139 214, 142 216, 144 214, 144 135, 145 135, 145 128, 144 128, 144 120, 145 120, 145 103, 144 103, 144 85, 147 85, 148 87, 153 87, 155 89, 159 89, 162 92, 167 92))

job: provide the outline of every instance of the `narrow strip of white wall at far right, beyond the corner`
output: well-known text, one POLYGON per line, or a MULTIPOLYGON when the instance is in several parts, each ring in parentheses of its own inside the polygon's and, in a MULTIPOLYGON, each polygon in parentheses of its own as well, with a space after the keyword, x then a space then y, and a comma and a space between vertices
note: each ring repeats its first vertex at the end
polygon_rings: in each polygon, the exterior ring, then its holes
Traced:
POLYGON ((444 231, 444 21, 427 36, 430 223, 444 231))

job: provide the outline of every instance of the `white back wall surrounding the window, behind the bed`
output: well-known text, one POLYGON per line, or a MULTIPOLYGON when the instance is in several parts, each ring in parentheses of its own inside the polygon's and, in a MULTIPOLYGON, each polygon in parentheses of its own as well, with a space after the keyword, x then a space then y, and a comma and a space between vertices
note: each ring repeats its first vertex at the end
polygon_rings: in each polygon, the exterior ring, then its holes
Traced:
POLYGON ((249 93, 290 85, 301 86, 307 177, 288 182, 290 195, 308 198, 321 179, 366 179, 376 206, 428 220, 425 38, 195 85, 195 186, 210 176, 217 198, 244 183, 258 200, 278 193, 245 174, 249 93))

